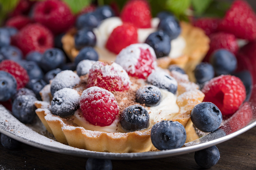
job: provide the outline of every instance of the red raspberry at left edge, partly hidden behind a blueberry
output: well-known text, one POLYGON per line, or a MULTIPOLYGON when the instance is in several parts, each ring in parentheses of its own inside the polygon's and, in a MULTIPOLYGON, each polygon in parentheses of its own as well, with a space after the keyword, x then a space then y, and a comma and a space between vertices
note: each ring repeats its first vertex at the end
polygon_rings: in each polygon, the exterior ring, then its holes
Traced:
POLYGON ((0 63, 0 70, 6 71, 16 79, 17 89, 25 87, 29 81, 27 70, 12 60, 4 60, 0 63))

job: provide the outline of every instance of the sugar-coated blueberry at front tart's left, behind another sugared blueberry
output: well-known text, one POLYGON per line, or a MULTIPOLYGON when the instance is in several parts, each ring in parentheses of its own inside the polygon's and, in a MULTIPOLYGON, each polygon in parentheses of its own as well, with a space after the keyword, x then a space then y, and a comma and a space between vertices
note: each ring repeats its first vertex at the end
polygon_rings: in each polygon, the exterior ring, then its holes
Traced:
POLYGON ((75 85, 79 84, 80 78, 76 73, 71 70, 64 70, 58 73, 55 78, 52 79, 51 84, 51 94, 54 96, 54 93, 65 87, 73 88, 75 85))

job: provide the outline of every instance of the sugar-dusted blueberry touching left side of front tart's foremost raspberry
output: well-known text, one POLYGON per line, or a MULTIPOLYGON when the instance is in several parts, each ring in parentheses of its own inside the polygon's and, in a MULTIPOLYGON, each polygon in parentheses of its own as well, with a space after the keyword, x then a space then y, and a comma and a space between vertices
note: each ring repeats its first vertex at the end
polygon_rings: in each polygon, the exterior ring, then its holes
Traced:
POLYGON ((79 98, 80 95, 74 89, 60 89, 52 98, 52 114, 60 117, 73 115, 79 107, 79 98))

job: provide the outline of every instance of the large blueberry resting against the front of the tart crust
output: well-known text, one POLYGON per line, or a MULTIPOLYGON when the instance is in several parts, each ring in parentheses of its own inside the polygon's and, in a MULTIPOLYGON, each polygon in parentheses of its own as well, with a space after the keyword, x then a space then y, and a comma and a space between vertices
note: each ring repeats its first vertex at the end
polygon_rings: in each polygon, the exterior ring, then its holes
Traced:
POLYGON ((152 127, 150 137, 156 149, 166 150, 183 146, 187 135, 180 122, 161 121, 152 127))

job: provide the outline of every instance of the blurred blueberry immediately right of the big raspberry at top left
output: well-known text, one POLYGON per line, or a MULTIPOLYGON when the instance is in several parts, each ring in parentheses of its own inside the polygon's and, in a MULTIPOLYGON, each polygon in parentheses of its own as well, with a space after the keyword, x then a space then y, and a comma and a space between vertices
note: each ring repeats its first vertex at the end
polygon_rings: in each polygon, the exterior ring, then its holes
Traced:
POLYGON ((101 20, 102 18, 96 12, 82 14, 76 19, 76 28, 95 28, 100 24, 101 20))

